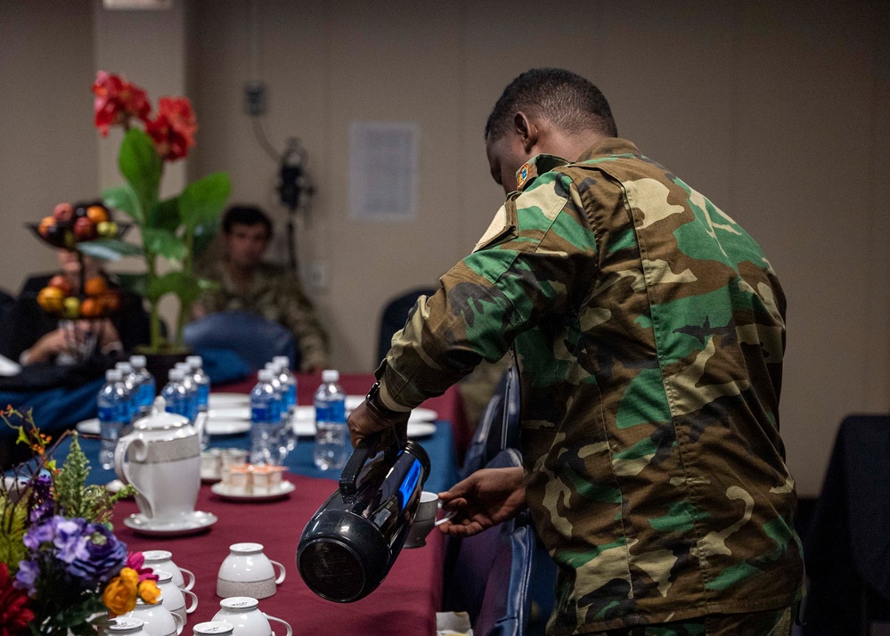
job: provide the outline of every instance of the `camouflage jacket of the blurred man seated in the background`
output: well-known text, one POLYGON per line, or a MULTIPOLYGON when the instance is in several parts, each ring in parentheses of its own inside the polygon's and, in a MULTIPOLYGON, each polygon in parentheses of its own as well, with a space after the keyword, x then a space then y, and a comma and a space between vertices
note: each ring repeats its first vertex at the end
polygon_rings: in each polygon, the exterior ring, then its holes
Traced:
POLYGON ((223 261, 217 261, 202 275, 219 284, 200 298, 200 305, 208 314, 239 310, 262 315, 288 328, 297 338, 301 371, 321 369, 328 364, 328 336, 297 277, 286 268, 269 263, 259 265, 246 290, 234 285, 223 261))

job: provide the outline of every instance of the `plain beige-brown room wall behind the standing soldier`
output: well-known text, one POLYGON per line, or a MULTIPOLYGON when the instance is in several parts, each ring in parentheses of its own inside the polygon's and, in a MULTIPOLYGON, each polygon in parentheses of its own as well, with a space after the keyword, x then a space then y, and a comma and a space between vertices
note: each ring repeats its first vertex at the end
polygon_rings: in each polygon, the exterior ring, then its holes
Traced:
MULTIPOLYGON (((88 33, 86 3, 64 5, 61 17, 88 33)), ((311 215, 298 219, 299 253, 304 273, 310 265, 327 273, 327 285, 309 291, 331 331, 334 362, 343 371, 370 371, 386 299, 435 281, 471 248, 502 201, 482 130, 503 86, 532 66, 563 66, 603 89, 622 135, 706 192, 771 257, 788 295, 781 424, 800 492, 818 492, 845 413, 890 410, 884 2, 192 0, 176 3, 173 13, 115 17, 128 20, 117 45, 102 27, 108 16, 98 17, 96 50, 78 43, 65 55, 59 39, 69 25, 53 26, 48 3, 29 3, 35 8, 27 12, 16 6, 0 9, 0 29, 10 20, 14 27, 14 46, 0 33, 0 117, 14 115, 4 135, 19 140, 0 145, 4 231, 19 232, 21 220, 36 216, 19 210, 45 209, 78 184, 90 191, 105 182, 89 168, 103 159, 89 147, 94 134, 82 115, 88 95, 76 117, 70 103, 50 97, 58 81, 69 94, 88 86, 91 61, 122 58, 143 63, 138 72, 150 73, 159 90, 178 90, 160 86, 171 77, 188 88, 200 126, 189 174, 228 170, 233 200, 265 206, 282 226, 277 167, 243 109, 243 84, 259 76, 268 86, 262 125, 270 143, 281 151, 287 137, 298 136, 309 153, 317 194, 311 215), (252 58, 254 23, 259 46, 252 58), (162 63, 152 57, 159 53, 162 63), (37 133, 37 142, 30 136, 37 126, 18 124, 35 121, 30 101, 18 94, 30 89, 35 65, 45 76, 39 108, 53 109, 48 118, 59 128, 37 133), (354 120, 420 124, 416 221, 349 219, 354 120), (69 179, 74 170, 78 178, 52 196, 36 194, 31 173, 46 166, 37 149, 57 138, 87 160, 55 161, 46 174, 69 179), (8 216, 12 211, 20 216, 8 216)), ((283 255, 281 242, 276 250, 283 255)), ((12 241, 0 253, 0 285, 15 287, 37 252, 46 256, 30 241, 12 241)))

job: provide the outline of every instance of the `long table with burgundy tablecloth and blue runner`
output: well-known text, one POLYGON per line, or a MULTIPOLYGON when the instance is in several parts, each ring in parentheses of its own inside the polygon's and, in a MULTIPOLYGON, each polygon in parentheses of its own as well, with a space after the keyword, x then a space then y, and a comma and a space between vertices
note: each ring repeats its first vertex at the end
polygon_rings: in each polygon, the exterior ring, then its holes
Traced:
MULTIPOLYGON (((372 386, 370 374, 343 375, 340 385, 348 395, 363 395, 372 386)), ((246 381, 225 387, 214 387, 213 395, 246 394, 255 382, 246 381)), ((298 376, 298 404, 312 404, 315 376, 298 376)), ((433 430, 414 441, 429 454, 431 469, 424 490, 441 492, 457 481, 457 458, 450 418, 462 410, 456 388, 429 399, 421 407, 436 412, 433 430)), ((426 431, 425 431, 426 432, 426 431)), ((61 442, 56 457, 63 461, 70 438, 61 442)), ((100 441, 97 436, 80 435, 80 444, 92 470, 89 481, 106 484, 116 476, 113 470, 99 464, 100 441)), ((210 447, 249 448, 249 433, 212 435, 210 447)), ((219 610, 216 575, 229 553, 229 546, 239 542, 257 542, 265 555, 282 563, 286 575, 274 596, 261 599, 259 608, 269 616, 287 621, 294 634, 313 636, 355 636, 356 634, 434 634, 436 612, 442 599, 443 535, 433 529, 426 545, 404 549, 386 579, 368 596, 351 603, 322 599, 310 591, 296 567, 300 534, 314 512, 338 487, 339 470, 322 470, 314 465, 314 439, 299 437, 284 461, 287 471, 283 479, 294 486, 292 492, 272 501, 233 499, 214 493, 210 484, 200 487, 196 510, 211 513, 216 522, 197 534, 145 535, 124 524, 125 518, 139 512, 135 500, 118 501, 112 524, 115 534, 127 543, 128 550, 168 550, 178 567, 191 570, 196 582, 192 591, 198 605, 188 615, 184 634, 192 626, 211 620, 219 610)), ((273 624, 275 634, 283 636, 282 627, 273 624)))

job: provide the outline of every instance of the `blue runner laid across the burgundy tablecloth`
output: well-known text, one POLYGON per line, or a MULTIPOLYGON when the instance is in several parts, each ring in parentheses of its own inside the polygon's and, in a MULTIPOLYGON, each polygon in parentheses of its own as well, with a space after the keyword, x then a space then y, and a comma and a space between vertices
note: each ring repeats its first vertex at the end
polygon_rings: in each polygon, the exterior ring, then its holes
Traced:
MULTIPOLYGON (((97 389, 98 390, 98 389, 97 389)), ((446 421, 436 423, 436 432, 429 437, 421 437, 415 440, 429 453, 431 462, 430 475, 424 490, 433 493, 441 493, 457 482, 457 460, 454 454, 454 441, 451 424, 446 421)), ((56 459, 61 461, 68 455, 69 441, 62 442, 56 459)), ((212 436, 210 445, 217 448, 243 448, 250 447, 249 433, 233 436, 212 436)), ((90 465, 90 484, 107 484, 115 478, 114 470, 105 470, 99 464, 99 440, 80 439, 80 447, 86 453, 90 465)), ((315 467, 312 459, 314 441, 309 437, 300 437, 297 447, 288 455, 284 465, 293 473, 306 477, 327 477, 331 480, 339 478, 338 470, 320 470, 315 467)), ((331 481, 331 493, 336 484, 331 481)))

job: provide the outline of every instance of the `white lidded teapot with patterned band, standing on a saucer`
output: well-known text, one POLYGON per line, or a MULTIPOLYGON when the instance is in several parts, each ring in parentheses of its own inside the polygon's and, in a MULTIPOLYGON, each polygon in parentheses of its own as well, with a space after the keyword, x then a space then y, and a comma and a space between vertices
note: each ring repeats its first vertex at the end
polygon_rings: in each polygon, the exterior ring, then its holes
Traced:
POLYGON ((192 514, 200 490, 200 439, 207 413, 192 423, 165 412, 163 397, 155 398, 151 413, 136 420, 133 432, 118 439, 114 471, 135 486, 136 503, 154 521, 179 521, 192 514))

